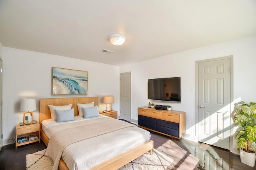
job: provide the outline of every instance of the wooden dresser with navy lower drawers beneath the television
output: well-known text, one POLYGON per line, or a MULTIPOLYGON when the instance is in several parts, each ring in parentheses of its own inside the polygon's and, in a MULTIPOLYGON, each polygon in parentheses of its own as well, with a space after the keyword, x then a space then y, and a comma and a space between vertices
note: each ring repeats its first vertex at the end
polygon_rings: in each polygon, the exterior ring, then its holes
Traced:
POLYGON ((138 107, 138 125, 143 129, 180 139, 186 133, 186 113, 138 107))

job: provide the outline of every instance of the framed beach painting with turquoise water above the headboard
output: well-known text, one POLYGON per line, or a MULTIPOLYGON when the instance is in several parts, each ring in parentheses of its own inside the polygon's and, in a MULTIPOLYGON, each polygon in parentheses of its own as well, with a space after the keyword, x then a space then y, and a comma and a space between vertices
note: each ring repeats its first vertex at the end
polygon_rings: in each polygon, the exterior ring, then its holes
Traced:
POLYGON ((87 94, 88 71, 52 67, 52 94, 87 94))

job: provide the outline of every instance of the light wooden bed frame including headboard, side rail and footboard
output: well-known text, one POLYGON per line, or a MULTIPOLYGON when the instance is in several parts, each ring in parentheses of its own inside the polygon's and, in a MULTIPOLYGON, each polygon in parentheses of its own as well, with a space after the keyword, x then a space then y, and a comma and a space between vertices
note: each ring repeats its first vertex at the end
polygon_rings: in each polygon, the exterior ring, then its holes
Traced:
MULTIPOLYGON (((40 136, 42 141, 45 143, 46 146, 48 146, 49 139, 42 131, 42 121, 45 119, 51 118, 51 113, 48 105, 54 105, 54 106, 61 106, 61 105, 68 105, 72 104, 72 108, 74 108, 74 115, 78 115, 78 107, 77 104, 85 104, 94 102, 94 106, 98 106, 98 97, 84 97, 84 98, 49 98, 49 99, 41 99, 40 100, 40 136)), ((92 168, 92 170, 98 170, 98 169, 108 169, 108 170, 116 170, 125 164, 128 164, 132 160, 138 158, 142 154, 146 152, 150 152, 152 154, 152 149, 154 148, 153 141, 149 140, 143 144, 140 144, 126 152, 123 152, 122 154, 119 154, 115 156, 114 158, 111 158, 105 162, 102 162, 101 164, 95 166, 92 168)), ((59 163, 59 170, 68 170, 68 167, 66 166, 64 160, 60 159, 59 163)))

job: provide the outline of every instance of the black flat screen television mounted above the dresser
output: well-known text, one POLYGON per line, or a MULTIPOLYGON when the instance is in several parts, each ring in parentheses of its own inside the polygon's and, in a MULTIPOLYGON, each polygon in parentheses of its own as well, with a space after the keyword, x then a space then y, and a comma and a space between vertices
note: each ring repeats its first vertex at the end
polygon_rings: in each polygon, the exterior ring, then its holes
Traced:
POLYGON ((180 102, 180 77, 148 79, 148 99, 180 102))

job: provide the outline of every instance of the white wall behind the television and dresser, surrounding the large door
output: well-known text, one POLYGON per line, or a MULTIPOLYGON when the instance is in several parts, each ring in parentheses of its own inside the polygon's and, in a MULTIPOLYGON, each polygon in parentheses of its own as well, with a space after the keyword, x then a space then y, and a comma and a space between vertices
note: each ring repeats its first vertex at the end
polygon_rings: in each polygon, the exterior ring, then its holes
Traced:
MULTIPOLYGON (((172 47, 170 47, 172 48, 172 47)), ((174 110, 186 112, 186 135, 197 141, 195 135, 196 61, 234 56, 234 100, 256 102, 256 35, 207 47, 174 53, 139 63, 120 66, 120 73, 132 72, 132 119, 138 119, 137 107, 149 102, 147 82, 150 78, 181 77, 181 102, 150 100, 155 104, 171 105, 174 110)), ((233 144, 232 144, 233 145, 233 144)))

